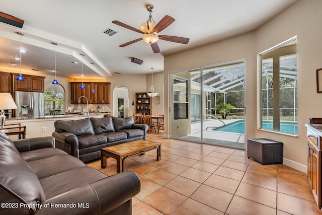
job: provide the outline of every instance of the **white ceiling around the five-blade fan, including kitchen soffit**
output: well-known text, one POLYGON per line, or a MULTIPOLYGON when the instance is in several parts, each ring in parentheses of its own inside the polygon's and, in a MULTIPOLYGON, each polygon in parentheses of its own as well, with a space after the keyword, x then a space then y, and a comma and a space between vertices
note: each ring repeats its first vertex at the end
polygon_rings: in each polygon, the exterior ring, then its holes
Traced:
POLYGON ((127 74, 150 74, 164 70, 164 56, 223 38, 255 30, 297 0, 11 0, 1 5, 0 12, 24 20, 23 28, 0 22, 0 68, 19 73, 20 36, 22 71, 39 69, 35 74, 50 74, 54 69, 56 42, 57 76, 79 79, 82 73, 92 78, 127 74), (162 35, 188 37, 187 45, 158 40, 160 53, 153 53, 149 44, 139 41, 126 47, 119 45, 142 35, 112 23, 118 20, 134 28, 146 22, 149 13, 145 6, 153 5, 153 20, 157 23, 165 15, 176 21, 162 31, 162 35), (111 28, 118 33, 108 36, 111 28), (144 62, 139 65, 131 58, 144 62), (71 61, 80 63, 73 64, 71 61), (10 62, 16 62, 11 66, 10 62))

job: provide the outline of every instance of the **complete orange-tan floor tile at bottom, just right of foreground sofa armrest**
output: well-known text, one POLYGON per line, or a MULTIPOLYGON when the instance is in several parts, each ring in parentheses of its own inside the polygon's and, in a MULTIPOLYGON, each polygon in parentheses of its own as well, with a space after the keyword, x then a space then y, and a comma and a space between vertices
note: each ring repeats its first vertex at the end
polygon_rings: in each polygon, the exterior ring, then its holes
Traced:
POLYGON ((143 202, 163 214, 172 214, 188 197, 161 187, 143 199, 143 202))

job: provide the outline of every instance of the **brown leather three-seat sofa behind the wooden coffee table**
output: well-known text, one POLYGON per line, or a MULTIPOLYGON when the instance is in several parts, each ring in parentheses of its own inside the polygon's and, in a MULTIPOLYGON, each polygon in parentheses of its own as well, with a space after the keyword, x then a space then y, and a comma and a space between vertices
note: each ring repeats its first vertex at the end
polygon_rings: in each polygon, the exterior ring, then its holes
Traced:
POLYGON ((132 117, 85 118, 54 122, 55 147, 83 162, 101 158, 101 149, 146 139, 148 126, 135 124, 132 117))

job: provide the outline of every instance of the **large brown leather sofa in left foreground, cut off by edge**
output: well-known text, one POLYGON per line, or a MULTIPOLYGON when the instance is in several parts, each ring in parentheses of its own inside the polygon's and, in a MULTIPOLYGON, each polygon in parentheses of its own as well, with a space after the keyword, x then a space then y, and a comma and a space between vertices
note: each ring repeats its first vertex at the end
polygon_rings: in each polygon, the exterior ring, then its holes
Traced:
POLYGON ((0 131, 0 214, 131 214, 134 172, 108 177, 54 148, 53 138, 0 131))

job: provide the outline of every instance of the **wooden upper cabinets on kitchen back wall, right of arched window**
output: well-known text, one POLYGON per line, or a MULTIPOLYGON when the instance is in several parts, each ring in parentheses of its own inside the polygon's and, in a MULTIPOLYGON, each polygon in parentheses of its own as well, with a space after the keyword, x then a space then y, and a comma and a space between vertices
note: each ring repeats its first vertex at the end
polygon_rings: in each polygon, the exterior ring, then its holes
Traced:
MULTIPOLYGON (((91 104, 110 104, 110 85, 106 82, 84 82, 85 89, 81 89, 82 82, 71 82, 71 103, 78 104, 78 98, 85 96, 91 104), (94 88, 95 93, 92 93, 94 88)), ((80 103, 86 103, 83 97, 80 103)))

